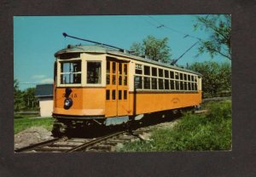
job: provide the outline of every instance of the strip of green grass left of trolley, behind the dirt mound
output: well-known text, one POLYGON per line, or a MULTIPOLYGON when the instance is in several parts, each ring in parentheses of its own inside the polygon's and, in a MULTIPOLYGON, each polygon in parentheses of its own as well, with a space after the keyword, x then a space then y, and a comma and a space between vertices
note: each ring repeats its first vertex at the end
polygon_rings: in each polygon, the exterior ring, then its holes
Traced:
POLYGON ((52 117, 47 118, 32 118, 32 115, 15 115, 15 134, 31 127, 43 127, 47 130, 51 130, 54 119, 52 117))

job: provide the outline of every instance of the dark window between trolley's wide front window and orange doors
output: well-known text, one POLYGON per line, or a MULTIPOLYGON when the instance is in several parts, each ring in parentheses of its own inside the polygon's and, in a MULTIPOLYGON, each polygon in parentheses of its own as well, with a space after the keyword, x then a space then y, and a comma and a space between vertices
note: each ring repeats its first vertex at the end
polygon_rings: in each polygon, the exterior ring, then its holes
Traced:
POLYGON ((87 83, 102 83, 102 63, 100 61, 87 62, 87 83))

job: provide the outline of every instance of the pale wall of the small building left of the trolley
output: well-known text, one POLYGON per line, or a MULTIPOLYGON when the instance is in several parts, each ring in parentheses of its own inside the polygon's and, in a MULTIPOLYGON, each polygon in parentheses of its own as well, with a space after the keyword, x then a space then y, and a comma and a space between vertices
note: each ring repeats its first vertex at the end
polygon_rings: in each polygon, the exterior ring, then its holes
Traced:
POLYGON ((41 117, 51 117, 53 111, 52 99, 39 99, 39 106, 41 117))

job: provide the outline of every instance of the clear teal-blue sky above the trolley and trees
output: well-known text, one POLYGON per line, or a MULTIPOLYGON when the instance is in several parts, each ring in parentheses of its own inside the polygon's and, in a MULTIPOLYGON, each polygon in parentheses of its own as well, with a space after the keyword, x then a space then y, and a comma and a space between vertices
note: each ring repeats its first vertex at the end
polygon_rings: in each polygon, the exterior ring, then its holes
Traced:
MULTIPOLYGON (((36 84, 53 82, 55 52, 68 44, 91 44, 80 37, 107 43, 122 49, 130 49, 132 43, 141 43, 148 35, 168 37, 172 59, 177 59, 197 39, 186 34, 207 39, 207 31, 195 31, 196 15, 84 15, 84 16, 15 16, 14 17, 14 77, 21 90, 36 87, 36 84), (164 26, 162 26, 164 25, 164 26), (161 26, 161 27, 160 27, 161 26)), ((195 45, 177 61, 186 66, 194 62, 214 60, 229 61, 217 55, 197 54, 195 45)))

